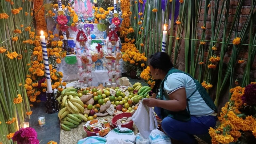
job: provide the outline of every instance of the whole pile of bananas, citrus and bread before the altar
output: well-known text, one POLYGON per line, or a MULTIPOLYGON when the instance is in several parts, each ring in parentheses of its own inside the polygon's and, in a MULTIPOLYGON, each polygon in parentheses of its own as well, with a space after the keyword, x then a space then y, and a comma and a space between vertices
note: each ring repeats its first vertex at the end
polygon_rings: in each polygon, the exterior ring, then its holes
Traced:
POLYGON ((57 97, 61 127, 64 130, 70 130, 72 127, 77 127, 82 120, 86 122, 120 112, 132 113, 137 109, 142 98, 149 98, 150 91, 149 86, 142 86, 139 82, 128 88, 105 88, 102 85, 77 89, 66 88, 61 93, 58 92, 57 97))

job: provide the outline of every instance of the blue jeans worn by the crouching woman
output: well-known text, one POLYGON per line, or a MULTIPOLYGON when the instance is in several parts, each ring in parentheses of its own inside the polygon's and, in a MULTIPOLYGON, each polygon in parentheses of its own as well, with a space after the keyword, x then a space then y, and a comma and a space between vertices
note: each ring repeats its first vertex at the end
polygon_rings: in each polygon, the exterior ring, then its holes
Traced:
MULTIPOLYGON (((161 118, 160 108, 154 107, 154 111, 157 116, 161 118)), ((182 141, 186 144, 195 144, 197 140, 194 135, 208 133, 210 127, 215 127, 216 121, 217 117, 212 115, 201 117, 191 115, 190 120, 187 122, 165 117, 162 120, 162 129, 170 138, 182 141)))

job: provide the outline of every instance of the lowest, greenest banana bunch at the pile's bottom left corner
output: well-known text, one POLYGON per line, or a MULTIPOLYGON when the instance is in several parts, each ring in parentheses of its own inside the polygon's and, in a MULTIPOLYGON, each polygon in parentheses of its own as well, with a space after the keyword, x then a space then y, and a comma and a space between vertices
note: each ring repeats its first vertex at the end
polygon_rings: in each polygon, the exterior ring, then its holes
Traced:
MULTIPOLYGON (((67 110, 68 111, 68 110, 67 110)), ((71 128, 78 127, 78 125, 82 122, 87 122, 87 118, 79 113, 79 114, 67 114, 63 120, 61 121, 61 128, 66 131, 70 131, 71 128)))

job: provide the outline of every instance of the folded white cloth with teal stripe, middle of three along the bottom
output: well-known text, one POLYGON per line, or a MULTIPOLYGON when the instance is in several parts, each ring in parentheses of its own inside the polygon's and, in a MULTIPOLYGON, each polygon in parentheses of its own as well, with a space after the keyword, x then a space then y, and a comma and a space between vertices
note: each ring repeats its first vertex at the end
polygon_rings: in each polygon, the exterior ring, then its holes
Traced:
POLYGON ((104 138, 107 139, 107 144, 134 144, 136 142, 133 131, 120 125, 111 130, 104 138))

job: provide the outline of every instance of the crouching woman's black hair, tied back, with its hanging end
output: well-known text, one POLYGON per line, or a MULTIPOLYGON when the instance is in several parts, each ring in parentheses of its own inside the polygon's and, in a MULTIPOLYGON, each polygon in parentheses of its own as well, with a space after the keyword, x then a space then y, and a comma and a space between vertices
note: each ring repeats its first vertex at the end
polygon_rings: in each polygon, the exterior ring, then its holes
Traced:
MULTIPOLYGON (((160 69, 164 72, 168 72, 171 68, 173 68, 173 63, 171 62, 170 56, 164 52, 157 52, 150 56, 149 64, 154 69, 160 69)), ((152 93, 157 93, 161 85, 161 79, 155 81, 155 85, 152 89, 152 93)))

